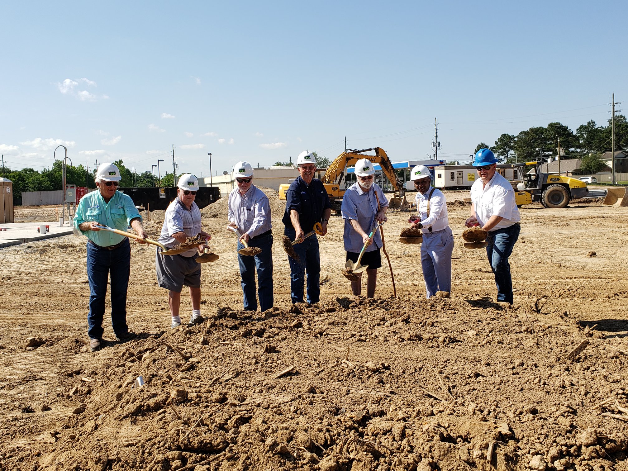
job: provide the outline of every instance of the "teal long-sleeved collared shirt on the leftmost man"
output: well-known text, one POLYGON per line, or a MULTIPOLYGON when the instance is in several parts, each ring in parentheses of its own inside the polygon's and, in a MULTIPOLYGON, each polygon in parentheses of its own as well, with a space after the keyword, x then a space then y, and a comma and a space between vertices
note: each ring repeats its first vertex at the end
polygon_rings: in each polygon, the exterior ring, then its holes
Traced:
MULTIPOLYGON (((77 230, 80 230, 78 229, 80 224, 95 221, 98 224, 127 232, 131 220, 136 218, 142 220, 138 208, 135 207, 129 195, 116 191, 111 200, 105 203, 105 198, 96 188, 94 192, 89 192, 80 198, 72 222, 77 230)), ((100 247, 115 246, 126 239, 126 237, 108 230, 80 230, 80 232, 100 247)))

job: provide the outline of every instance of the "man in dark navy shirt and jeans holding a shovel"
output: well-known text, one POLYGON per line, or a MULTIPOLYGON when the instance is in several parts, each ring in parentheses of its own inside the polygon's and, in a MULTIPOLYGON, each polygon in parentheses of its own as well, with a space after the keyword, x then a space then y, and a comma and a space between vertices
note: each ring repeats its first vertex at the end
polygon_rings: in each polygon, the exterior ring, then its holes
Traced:
MULTIPOLYGON (((314 178, 316 160, 311 152, 303 151, 296 159, 299 175, 286 192, 286 213, 281 222, 284 234, 291 241, 302 239, 310 232, 317 222, 322 223, 323 236, 327 234, 327 223, 332 214, 332 205, 323 183, 314 178)), ((292 303, 303 302, 303 283, 307 272, 307 302, 318 303, 320 299, 320 252, 316 234, 305 241, 295 244, 295 252, 299 257, 290 261, 290 297, 292 303)))

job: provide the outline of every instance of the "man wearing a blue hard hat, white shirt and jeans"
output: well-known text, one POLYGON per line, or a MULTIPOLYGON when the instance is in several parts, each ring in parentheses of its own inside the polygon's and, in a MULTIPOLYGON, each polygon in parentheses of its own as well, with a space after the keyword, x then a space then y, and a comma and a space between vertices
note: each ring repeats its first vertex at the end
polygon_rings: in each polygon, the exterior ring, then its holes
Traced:
POLYGON ((508 257, 519 239, 519 209, 511 183, 497 173, 497 158, 490 149, 475 153, 474 163, 479 180, 471 187, 471 217, 467 227, 487 230, 486 254, 495 275, 497 301, 512 304, 512 278, 508 257))

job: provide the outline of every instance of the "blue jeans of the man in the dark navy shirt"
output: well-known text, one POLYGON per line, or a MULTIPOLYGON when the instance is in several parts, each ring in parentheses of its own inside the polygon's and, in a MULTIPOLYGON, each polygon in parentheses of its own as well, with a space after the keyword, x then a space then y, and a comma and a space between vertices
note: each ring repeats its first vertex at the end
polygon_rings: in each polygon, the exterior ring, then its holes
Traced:
MULTIPOLYGON (((291 241, 295 240, 296 231, 286 227, 284 231, 291 241)), ((320 300, 320 252, 318 251, 318 239, 316 234, 308 237, 300 244, 293 246, 299 256, 299 263, 292 257, 290 261, 290 298, 293 304, 303 302, 303 284, 305 273, 308 274, 307 301, 310 304, 320 300)))

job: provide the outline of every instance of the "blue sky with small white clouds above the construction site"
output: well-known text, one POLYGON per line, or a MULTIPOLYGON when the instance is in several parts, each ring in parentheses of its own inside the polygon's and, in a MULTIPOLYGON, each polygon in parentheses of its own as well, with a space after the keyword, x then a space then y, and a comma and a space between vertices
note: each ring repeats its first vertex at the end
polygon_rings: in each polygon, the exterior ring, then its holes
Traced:
MULTIPOLYGON (((163 159, 208 176, 301 151, 391 160, 560 121, 628 97, 628 3, 0 3, 0 152, 17 170, 163 159), (612 28, 612 19, 617 24, 612 28), (614 33, 612 33, 614 31, 614 33), (58 152, 57 152, 58 155, 58 152)), ((628 106, 628 104, 627 104, 628 106)), ((621 109, 621 107, 619 107, 621 109)))

